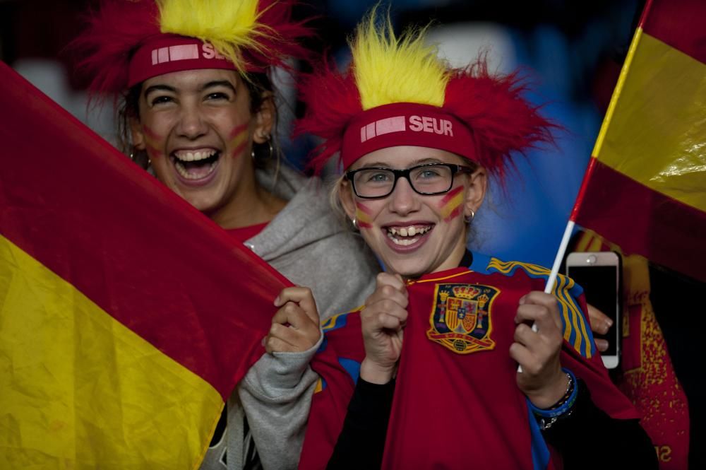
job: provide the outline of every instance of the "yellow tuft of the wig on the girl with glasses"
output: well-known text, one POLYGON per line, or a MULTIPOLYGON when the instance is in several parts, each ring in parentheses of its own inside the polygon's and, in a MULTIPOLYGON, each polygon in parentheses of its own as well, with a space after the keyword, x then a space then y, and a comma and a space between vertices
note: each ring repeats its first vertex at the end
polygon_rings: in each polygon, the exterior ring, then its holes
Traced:
POLYGON ((424 45, 424 32, 407 30, 395 37, 390 16, 378 20, 377 7, 358 26, 351 44, 353 68, 363 110, 392 102, 441 107, 449 67, 424 45))

